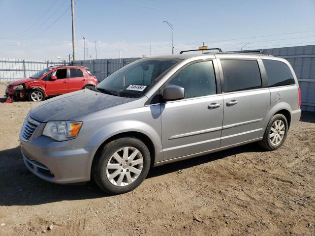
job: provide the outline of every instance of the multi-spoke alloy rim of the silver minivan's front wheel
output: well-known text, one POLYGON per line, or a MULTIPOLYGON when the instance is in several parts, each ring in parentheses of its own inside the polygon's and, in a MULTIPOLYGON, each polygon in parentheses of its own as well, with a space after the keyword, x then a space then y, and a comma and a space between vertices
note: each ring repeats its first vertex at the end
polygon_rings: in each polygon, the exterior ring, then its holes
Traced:
POLYGON ((143 157, 137 148, 124 147, 114 152, 106 165, 106 176, 115 186, 126 186, 141 174, 143 157))

